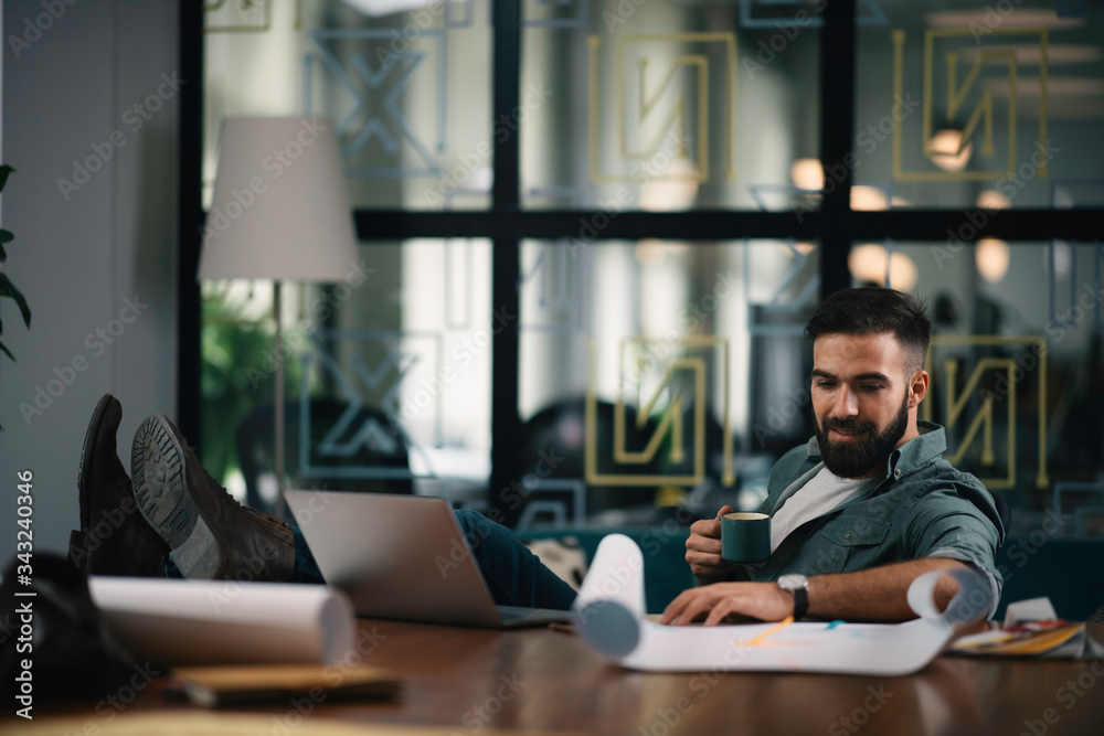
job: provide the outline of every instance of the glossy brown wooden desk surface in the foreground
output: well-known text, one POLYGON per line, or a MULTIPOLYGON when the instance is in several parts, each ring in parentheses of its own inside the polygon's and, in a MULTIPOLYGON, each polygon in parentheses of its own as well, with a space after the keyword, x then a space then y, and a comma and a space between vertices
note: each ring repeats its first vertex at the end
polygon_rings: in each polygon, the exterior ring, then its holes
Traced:
MULTIPOLYGON (((1100 660, 940 658, 915 675, 884 679, 641 674, 608 665, 576 637, 549 629, 497 632, 373 620, 360 625, 363 661, 402 676, 401 702, 320 703, 312 708, 317 715, 354 723, 436 725, 457 734, 1104 733, 1100 660)), ((1094 625, 1092 631, 1100 639, 1104 625, 1094 625)), ((189 706, 151 693, 131 710, 169 707, 189 706)), ((253 712, 288 711, 289 705, 280 703, 253 712)), ((95 716, 86 717, 96 722, 95 716)))

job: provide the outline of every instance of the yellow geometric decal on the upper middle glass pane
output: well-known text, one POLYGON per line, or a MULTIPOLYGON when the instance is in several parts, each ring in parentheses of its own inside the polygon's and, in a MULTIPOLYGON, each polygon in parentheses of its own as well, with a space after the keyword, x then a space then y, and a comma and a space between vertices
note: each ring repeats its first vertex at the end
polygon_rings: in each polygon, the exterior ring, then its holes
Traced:
MULTIPOLYGON (((643 180, 698 181, 709 180, 710 105, 720 105, 722 130, 725 134, 724 172, 726 179, 735 177, 734 166, 734 105, 736 99, 736 36, 733 33, 657 33, 617 36, 613 94, 603 94, 601 81, 602 40, 590 36, 590 95, 588 131, 591 181, 596 183, 643 183, 643 180), (689 44, 722 44, 723 68, 711 72, 710 55, 682 53, 689 44), (669 65, 655 68, 655 58, 668 54, 669 65), (630 54, 633 61, 629 61, 630 54), (679 89, 680 72, 689 70, 696 81, 694 102, 679 89), (720 96, 710 93, 711 74, 723 84, 720 96), (631 77, 631 78, 630 78, 631 77), (613 98, 616 105, 616 152, 619 160, 634 164, 630 173, 603 173, 601 164, 602 103, 613 98), (631 103, 631 104, 630 104, 631 103), (647 132, 645 130, 647 129, 647 132), (634 140, 644 139, 634 143, 634 140), (692 150, 691 150, 692 149, 692 150), (691 158, 694 170, 666 171, 656 166, 651 171, 647 162, 665 154, 669 158, 691 158), (645 173, 647 177, 645 178, 645 173)), ((718 64, 720 66, 720 64, 718 64)))

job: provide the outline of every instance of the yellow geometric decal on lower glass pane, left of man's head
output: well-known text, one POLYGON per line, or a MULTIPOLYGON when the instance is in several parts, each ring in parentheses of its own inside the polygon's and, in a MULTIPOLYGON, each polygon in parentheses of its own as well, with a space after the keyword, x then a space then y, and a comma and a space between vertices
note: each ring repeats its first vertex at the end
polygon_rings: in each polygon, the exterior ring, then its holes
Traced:
MULTIPOLYGON (((721 366, 718 369, 722 371, 724 380, 724 397, 723 397, 723 417, 722 427, 724 433, 724 470, 722 482, 725 486, 732 486, 735 482, 735 473, 733 472, 733 449, 732 449, 732 430, 729 426, 729 365, 730 365, 730 351, 729 341, 724 338, 716 338, 710 335, 691 335, 687 338, 681 338, 679 340, 666 340, 666 339, 650 339, 650 338, 626 338, 622 340, 618 350, 618 361, 617 361, 617 375, 618 384, 624 385, 626 377, 625 372, 625 354, 630 348, 636 348, 641 351, 648 350, 650 345, 662 344, 665 346, 671 348, 671 353, 679 353, 686 349, 720 349, 721 352, 721 366)), ((595 350, 594 341, 590 342, 590 355, 588 355, 588 374, 587 374, 587 386, 586 386, 586 482, 593 486, 697 486, 705 477, 705 420, 707 420, 707 405, 708 405, 708 391, 705 381, 705 360, 701 356, 682 356, 676 358, 667 363, 664 372, 664 377, 659 385, 649 395, 645 395, 643 388, 643 381, 634 381, 636 385, 636 396, 635 405, 637 407, 636 412, 636 428, 644 428, 652 413, 656 409, 657 403, 667 394, 670 393, 672 398, 664 410, 662 415, 659 417, 658 426, 652 433, 651 437, 648 438, 647 444, 644 449, 633 450, 627 447, 626 444, 626 410, 625 410, 625 396, 622 390, 618 390, 617 398, 614 403, 614 427, 613 427, 613 459, 619 465, 648 465, 659 452, 660 446, 664 444, 665 439, 670 438, 670 461, 675 465, 683 462, 687 458, 686 448, 686 431, 683 427, 683 406, 684 402, 682 396, 678 392, 676 382, 679 377, 684 374, 690 374, 693 376, 693 472, 687 474, 646 474, 646 473, 599 473, 598 472, 598 458, 597 458, 597 433, 598 433, 598 422, 597 422, 597 396, 595 394, 595 350)), ((645 360, 639 359, 637 361, 637 375, 640 375, 645 366, 645 360)))

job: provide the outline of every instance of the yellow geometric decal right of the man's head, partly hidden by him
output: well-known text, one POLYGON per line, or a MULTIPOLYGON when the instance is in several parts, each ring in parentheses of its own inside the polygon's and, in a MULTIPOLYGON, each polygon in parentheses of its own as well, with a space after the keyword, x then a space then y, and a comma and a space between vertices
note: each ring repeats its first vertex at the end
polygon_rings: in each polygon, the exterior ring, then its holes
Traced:
POLYGON ((958 448, 945 456, 947 460, 958 466, 963 457, 978 439, 981 433, 980 462, 983 467, 992 467, 996 463, 996 454, 992 445, 992 425, 995 402, 1000 398, 1005 401, 1007 407, 1006 415, 1006 456, 1008 471, 1002 478, 980 478, 979 480, 990 489, 1009 489, 1016 487, 1016 386, 1023 380, 1026 373, 1031 370, 1039 371, 1039 472, 1036 476, 1036 486, 1047 488, 1050 480, 1047 474, 1047 340, 1042 337, 1025 335, 1019 338, 1002 338, 998 335, 975 334, 975 335, 933 335, 932 345, 927 352, 927 360, 924 369, 932 375, 932 392, 928 401, 921 404, 922 418, 932 420, 932 405, 935 396, 935 388, 938 386, 944 394, 944 422, 949 429, 958 425, 959 419, 967 414, 966 405, 968 399, 977 394, 978 383, 987 371, 999 371, 996 387, 998 393, 981 390, 981 407, 969 418, 966 424, 966 434, 958 442, 958 448), (1023 345, 1029 352, 1012 358, 983 358, 977 361, 973 372, 966 378, 959 393, 958 390, 958 367, 957 359, 947 359, 943 362, 943 380, 936 381, 933 372, 933 353, 940 345, 965 345, 965 346, 988 346, 988 345, 1023 345), (1025 367, 1027 365, 1027 367, 1025 367), (1033 367, 1032 367, 1033 366, 1033 367), (1017 375, 1017 373, 1019 375, 1017 375))

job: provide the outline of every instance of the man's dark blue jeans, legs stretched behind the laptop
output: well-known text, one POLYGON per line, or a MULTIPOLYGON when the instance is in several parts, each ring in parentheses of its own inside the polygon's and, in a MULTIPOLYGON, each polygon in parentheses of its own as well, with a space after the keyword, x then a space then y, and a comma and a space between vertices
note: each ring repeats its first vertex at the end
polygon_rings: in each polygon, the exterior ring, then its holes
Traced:
MULTIPOLYGON (((513 532, 477 511, 459 509, 454 513, 496 604, 558 610, 571 608, 576 595, 572 587, 545 567, 513 532)), ((325 583, 299 527, 293 526, 291 531, 295 533, 295 569, 290 582, 325 583)), ((166 574, 180 577, 171 559, 166 565, 166 574)))

